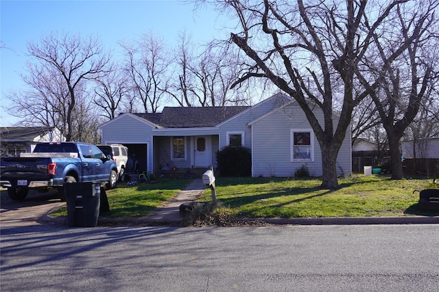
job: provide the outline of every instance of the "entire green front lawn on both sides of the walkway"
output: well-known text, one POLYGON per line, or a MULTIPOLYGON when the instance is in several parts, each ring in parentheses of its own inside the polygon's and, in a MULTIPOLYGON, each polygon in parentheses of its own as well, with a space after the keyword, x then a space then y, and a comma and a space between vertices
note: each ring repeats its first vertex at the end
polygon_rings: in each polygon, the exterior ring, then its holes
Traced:
MULTIPOLYGON (((119 184, 107 191, 110 211, 104 217, 144 217, 191 181, 159 179, 136 186, 119 184)), ((377 217, 439 215, 418 209, 421 189, 431 180, 392 181, 388 176, 353 175, 339 180, 341 189, 320 189, 318 178, 222 178, 216 180, 215 212, 234 217, 377 217), (418 190, 418 191, 416 191, 418 190), (414 192, 415 191, 415 192, 414 192)), ((206 188, 204 201, 211 200, 206 188)), ((66 208, 52 215, 67 216, 66 208)))

